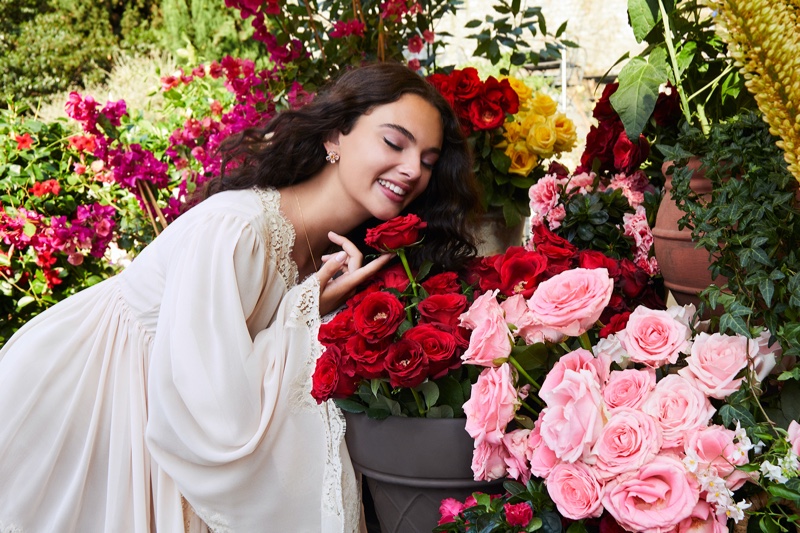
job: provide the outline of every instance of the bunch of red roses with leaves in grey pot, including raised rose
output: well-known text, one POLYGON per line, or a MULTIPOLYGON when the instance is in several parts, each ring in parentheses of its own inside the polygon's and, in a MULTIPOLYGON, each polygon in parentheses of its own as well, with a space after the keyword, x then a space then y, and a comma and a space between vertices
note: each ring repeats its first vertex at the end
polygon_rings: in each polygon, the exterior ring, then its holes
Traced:
MULTIPOLYGON (((401 413, 452 417, 460 412, 463 395, 452 405, 436 405, 442 384, 437 380, 461 366, 469 334, 458 326, 458 317, 467 308, 470 291, 454 272, 421 281, 429 266, 411 271, 405 248, 419 241, 425 227, 410 214, 367 232, 368 245, 396 253, 401 264, 382 270, 320 327, 325 350, 317 360, 311 391, 317 402, 352 396, 337 403, 374 418, 401 413)), ((453 379, 447 383, 452 385, 453 379)))

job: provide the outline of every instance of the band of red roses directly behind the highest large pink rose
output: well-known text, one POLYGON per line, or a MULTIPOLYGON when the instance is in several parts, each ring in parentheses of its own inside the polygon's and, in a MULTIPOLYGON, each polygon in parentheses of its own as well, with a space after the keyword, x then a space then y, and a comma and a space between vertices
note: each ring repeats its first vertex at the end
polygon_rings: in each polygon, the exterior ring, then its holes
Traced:
MULTIPOLYGON (((614 279, 614 294, 600 317, 604 324, 640 303, 651 309, 664 308, 650 275, 633 261, 614 259, 595 250, 578 250, 542 225, 534 228, 526 248, 512 246, 503 254, 476 260, 470 270, 474 277, 467 281, 477 285, 481 293, 498 289, 504 296, 530 298, 541 282, 572 268, 605 268, 614 279)), ((614 327, 625 326, 619 319, 613 324, 605 328, 606 335, 613 333, 614 327)))

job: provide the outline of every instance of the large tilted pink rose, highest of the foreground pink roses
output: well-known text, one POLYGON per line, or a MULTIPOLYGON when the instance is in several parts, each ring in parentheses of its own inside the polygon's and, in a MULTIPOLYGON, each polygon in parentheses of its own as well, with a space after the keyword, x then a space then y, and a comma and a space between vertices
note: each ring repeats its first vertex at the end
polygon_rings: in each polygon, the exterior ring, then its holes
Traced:
POLYGON ((594 326, 613 290, 605 268, 573 268, 540 283, 528 307, 546 339, 577 337, 594 326))

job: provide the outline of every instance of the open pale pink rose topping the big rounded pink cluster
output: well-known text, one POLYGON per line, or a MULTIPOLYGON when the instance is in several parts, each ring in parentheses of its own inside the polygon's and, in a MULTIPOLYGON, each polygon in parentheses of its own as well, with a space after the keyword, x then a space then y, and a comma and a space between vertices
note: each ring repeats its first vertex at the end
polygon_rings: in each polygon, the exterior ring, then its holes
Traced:
POLYGON ((628 318, 628 325, 617 339, 631 361, 657 368, 675 363, 678 354, 689 347, 691 331, 667 311, 639 306, 628 318))

